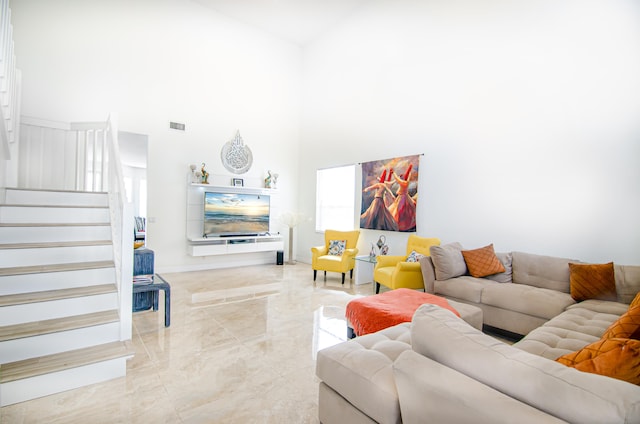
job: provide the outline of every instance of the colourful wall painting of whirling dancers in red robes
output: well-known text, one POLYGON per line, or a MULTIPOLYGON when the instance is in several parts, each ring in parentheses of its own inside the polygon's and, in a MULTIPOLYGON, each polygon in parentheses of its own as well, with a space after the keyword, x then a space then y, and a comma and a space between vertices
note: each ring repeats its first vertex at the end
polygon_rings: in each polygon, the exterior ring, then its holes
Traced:
POLYGON ((420 156, 403 156, 362 164, 360 228, 416 231, 420 156))

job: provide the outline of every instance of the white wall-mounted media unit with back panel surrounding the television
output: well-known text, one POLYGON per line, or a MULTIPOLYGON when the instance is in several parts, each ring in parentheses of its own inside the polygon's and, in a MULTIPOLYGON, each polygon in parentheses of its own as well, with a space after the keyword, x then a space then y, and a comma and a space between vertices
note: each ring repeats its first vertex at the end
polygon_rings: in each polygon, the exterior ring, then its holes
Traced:
POLYGON ((232 237, 203 237, 204 193, 206 191, 268 194, 271 196, 269 228, 273 228, 273 216, 278 213, 274 194, 277 190, 267 188, 225 187, 210 184, 189 184, 187 187, 187 252, 191 256, 230 255, 239 253, 271 252, 284 250, 280 234, 232 237))

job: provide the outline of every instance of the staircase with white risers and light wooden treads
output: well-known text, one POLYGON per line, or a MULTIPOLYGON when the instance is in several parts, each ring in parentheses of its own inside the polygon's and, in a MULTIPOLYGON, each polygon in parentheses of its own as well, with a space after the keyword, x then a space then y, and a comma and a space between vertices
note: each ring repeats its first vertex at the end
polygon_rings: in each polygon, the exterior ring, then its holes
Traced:
POLYGON ((124 376, 108 195, 4 191, 0 406, 124 376))

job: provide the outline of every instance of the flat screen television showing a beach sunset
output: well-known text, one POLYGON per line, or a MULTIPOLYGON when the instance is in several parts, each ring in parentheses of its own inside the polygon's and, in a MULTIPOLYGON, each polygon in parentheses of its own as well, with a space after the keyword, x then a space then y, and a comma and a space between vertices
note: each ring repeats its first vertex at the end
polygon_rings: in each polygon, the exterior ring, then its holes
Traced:
POLYGON ((205 237, 257 236, 269 231, 269 195, 204 193, 205 237))

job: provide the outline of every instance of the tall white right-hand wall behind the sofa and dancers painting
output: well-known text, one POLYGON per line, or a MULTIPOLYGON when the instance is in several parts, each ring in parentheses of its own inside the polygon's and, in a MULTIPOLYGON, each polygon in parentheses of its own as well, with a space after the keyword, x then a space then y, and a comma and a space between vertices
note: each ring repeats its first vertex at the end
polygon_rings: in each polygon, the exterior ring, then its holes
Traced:
POLYGON ((317 168, 424 153, 418 234, 640 264, 638 117, 637 1, 372 2, 304 51, 299 205, 317 168))

